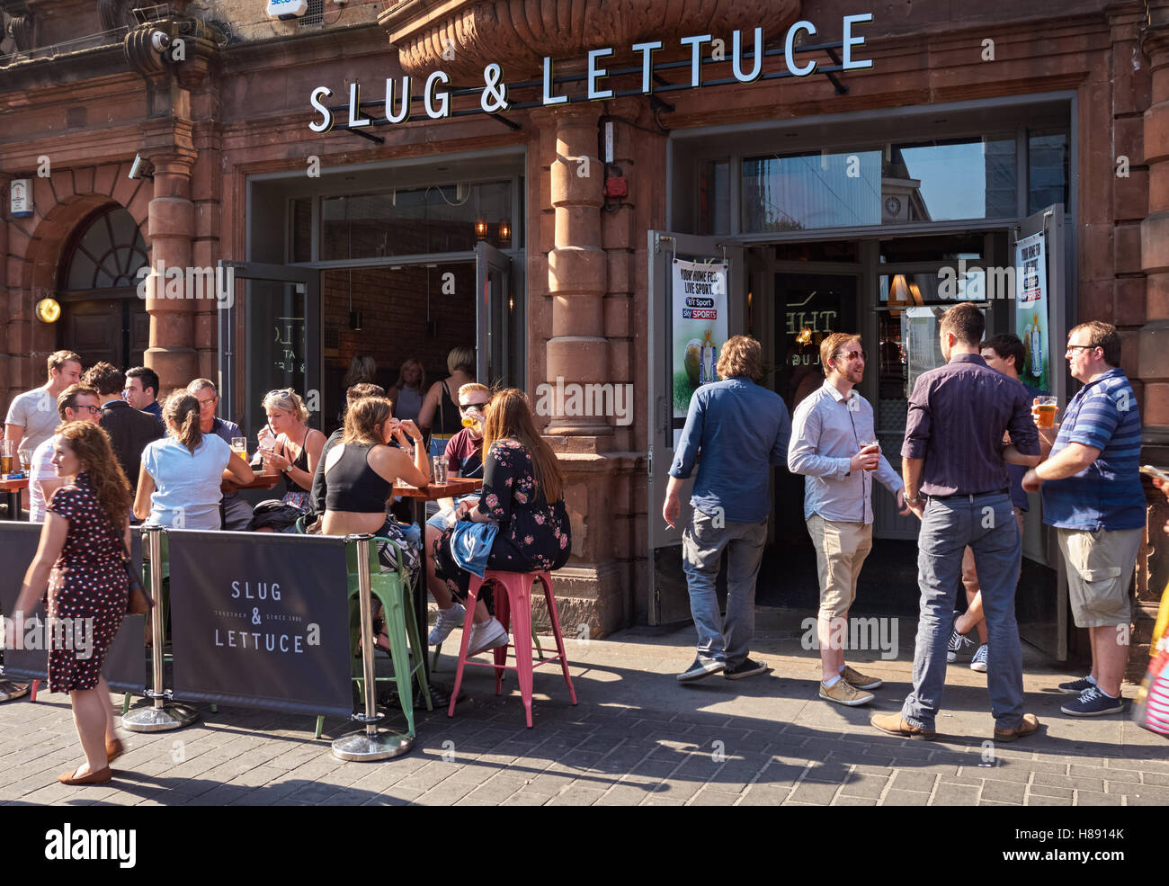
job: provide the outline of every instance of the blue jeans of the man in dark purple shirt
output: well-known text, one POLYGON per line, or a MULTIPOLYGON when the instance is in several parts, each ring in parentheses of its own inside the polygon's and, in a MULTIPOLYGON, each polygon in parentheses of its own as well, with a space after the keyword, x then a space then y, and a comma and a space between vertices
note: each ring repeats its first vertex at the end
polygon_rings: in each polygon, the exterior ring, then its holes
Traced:
POLYGON ((954 630, 954 596, 962 587, 962 553, 969 545, 987 616, 990 669, 987 691, 999 729, 1023 722, 1023 649, 1015 621, 1023 539, 1005 492, 926 503, 918 537, 921 616, 913 653, 913 692, 901 707, 906 722, 934 728, 946 686, 946 648, 954 630))

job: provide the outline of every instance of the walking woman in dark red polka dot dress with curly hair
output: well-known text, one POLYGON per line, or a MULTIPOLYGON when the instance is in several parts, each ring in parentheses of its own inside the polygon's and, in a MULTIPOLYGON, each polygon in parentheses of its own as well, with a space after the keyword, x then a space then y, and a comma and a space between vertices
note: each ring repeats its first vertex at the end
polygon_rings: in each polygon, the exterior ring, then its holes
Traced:
POLYGON ((15 609, 30 611, 48 587, 49 624, 61 619, 61 629, 49 635, 49 691, 69 693, 85 753, 85 762, 58 781, 102 784, 112 777, 110 761, 122 753, 102 662, 126 611, 122 545, 130 540, 130 483, 97 424, 69 422, 56 434, 53 464, 72 483, 49 501, 15 609))

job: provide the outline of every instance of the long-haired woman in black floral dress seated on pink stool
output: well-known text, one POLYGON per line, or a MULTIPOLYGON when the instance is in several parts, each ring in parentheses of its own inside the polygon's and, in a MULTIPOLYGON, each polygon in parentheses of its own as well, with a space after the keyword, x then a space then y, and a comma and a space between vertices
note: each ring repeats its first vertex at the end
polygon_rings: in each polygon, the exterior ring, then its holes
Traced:
MULTIPOLYGON (((459 519, 499 524, 486 568, 513 573, 559 569, 572 553, 563 475, 552 448, 540 436, 524 392, 507 388, 494 395, 483 428, 483 498, 462 501, 459 519)), ((433 547, 435 574, 451 596, 466 600, 470 573, 455 562, 447 529, 433 547)), ((507 631, 490 616, 479 598, 466 653, 507 644, 507 631)))

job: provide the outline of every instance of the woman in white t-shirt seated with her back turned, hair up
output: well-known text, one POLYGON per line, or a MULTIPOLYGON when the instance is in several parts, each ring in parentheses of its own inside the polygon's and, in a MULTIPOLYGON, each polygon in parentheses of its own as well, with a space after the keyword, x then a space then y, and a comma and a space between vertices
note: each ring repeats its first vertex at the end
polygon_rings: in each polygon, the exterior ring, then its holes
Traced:
POLYGON ((199 401, 186 392, 171 395, 162 410, 167 436, 143 450, 134 517, 177 529, 220 529, 220 485, 245 485, 251 468, 215 434, 199 429, 199 401))

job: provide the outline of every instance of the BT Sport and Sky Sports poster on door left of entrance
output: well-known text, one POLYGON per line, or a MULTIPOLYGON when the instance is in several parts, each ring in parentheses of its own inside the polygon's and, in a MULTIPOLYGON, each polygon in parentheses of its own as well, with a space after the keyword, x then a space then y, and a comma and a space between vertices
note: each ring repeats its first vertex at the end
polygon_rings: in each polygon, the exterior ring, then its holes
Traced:
POLYGON ((685 418, 693 393, 718 381, 714 367, 727 340, 727 263, 675 258, 671 281, 673 417, 685 418))

